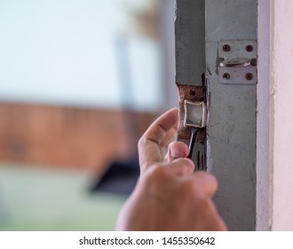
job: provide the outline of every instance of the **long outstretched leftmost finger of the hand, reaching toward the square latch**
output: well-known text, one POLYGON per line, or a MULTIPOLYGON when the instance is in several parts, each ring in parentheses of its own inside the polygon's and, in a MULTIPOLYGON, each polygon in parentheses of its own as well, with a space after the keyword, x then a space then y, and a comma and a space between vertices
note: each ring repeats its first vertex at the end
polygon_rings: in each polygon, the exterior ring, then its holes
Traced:
POLYGON ((159 116, 139 140, 139 165, 145 171, 154 163, 162 163, 166 150, 177 134, 178 109, 173 108, 159 116))

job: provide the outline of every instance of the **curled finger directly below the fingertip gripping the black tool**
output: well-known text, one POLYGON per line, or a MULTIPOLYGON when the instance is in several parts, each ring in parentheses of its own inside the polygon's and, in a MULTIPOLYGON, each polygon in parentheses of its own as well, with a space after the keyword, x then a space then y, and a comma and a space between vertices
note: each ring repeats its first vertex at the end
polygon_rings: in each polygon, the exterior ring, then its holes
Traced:
POLYGON ((169 173, 173 175, 183 176, 194 173, 194 162, 189 158, 178 158, 171 163, 166 164, 169 173))

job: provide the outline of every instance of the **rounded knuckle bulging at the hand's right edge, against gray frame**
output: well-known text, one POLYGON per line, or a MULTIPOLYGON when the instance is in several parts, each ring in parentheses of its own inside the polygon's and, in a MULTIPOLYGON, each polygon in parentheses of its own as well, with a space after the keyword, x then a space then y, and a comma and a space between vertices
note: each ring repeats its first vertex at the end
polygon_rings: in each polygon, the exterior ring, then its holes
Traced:
POLYGON ((196 189, 201 190, 206 197, 213 197, 218 189, 218 181, 216 177, 210 173, 198 171, 194 173, 193 178, 196 189))

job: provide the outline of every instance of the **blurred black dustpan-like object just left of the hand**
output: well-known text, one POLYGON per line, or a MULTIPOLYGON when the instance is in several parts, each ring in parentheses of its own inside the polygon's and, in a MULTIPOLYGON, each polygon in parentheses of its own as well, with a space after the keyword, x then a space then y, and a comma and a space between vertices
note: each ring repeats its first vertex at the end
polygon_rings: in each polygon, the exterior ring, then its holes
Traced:
POLYGON ((91 192, 107 192, 129 196, 139 179, 139 157, 131 157, 126 161, 116 161, 96 183, 91 192))

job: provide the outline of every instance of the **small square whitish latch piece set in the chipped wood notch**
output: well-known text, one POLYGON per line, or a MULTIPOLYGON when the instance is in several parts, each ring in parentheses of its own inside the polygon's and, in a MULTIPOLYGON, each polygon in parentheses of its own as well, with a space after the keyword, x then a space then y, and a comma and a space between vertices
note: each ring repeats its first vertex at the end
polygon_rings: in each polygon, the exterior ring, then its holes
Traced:
POLYGON ((184 126, 203 128, 206 126, 206 105, 203 101, 184 100, 184 126))

